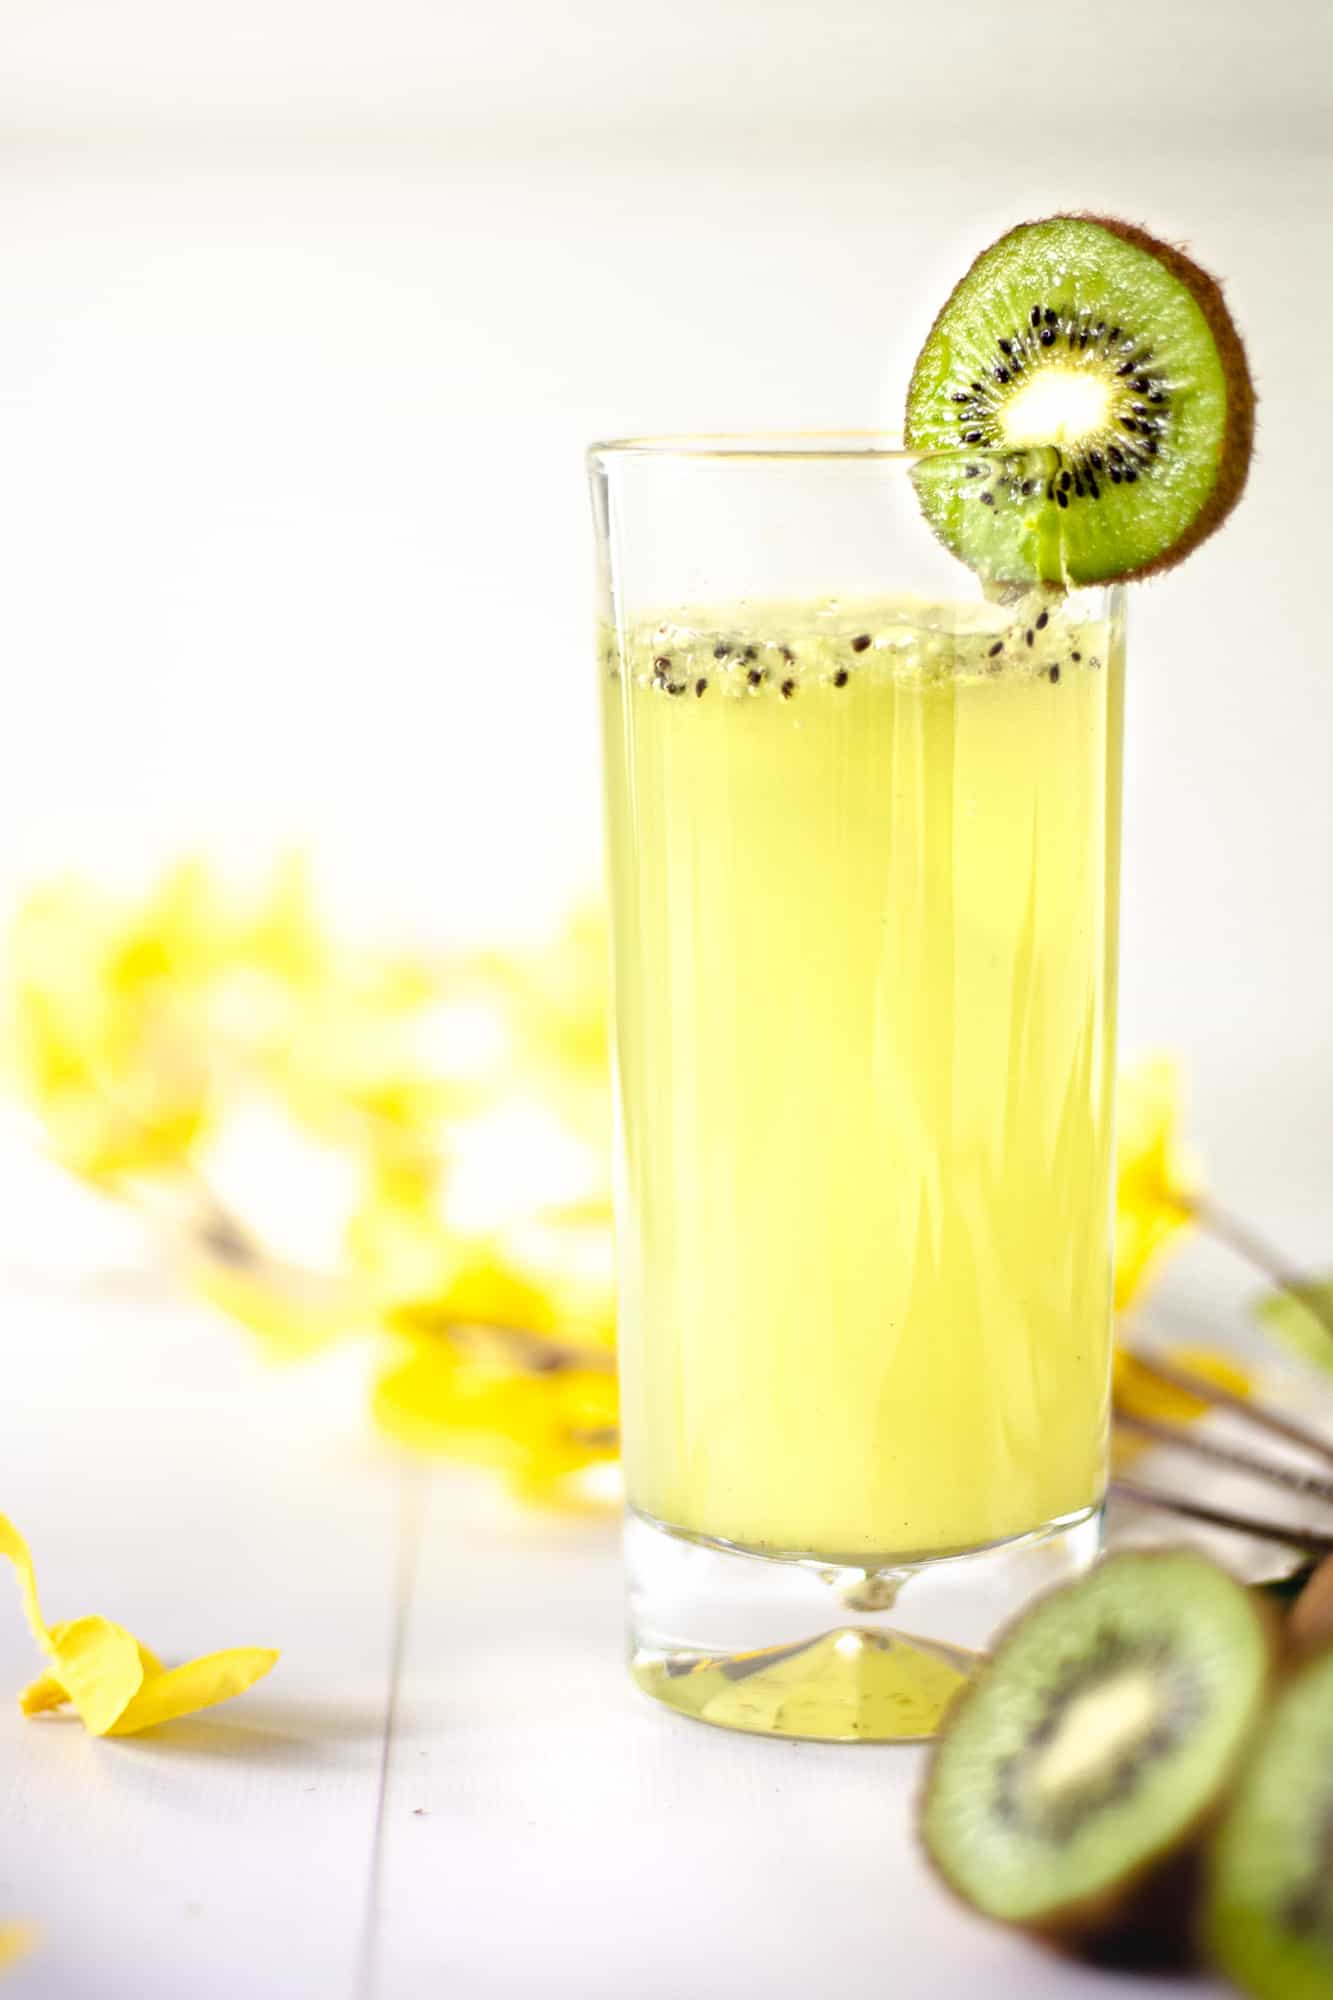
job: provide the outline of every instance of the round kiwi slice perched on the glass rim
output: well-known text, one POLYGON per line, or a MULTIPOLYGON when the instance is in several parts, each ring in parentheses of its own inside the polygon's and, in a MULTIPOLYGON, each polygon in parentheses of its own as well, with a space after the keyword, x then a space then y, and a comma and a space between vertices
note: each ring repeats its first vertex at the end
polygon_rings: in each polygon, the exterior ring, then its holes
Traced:
POLYGON ((1241 498, 1253 434, 1217 280, 1109 216, 1025 222, 983 250, 907 392, 927 520, 997 584, 1169 568, 1241 498))

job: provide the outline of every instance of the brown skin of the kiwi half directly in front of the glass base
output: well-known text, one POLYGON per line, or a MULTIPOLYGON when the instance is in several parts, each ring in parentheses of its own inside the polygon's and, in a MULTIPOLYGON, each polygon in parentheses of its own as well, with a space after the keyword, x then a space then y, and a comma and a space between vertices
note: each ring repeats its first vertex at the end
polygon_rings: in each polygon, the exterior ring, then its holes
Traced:
MULTIPOLYGON (((1197 1550, 1189 1552, 1197 1554, 1197 1550)), ((1135 1550, 1133 1554, 1137 1562, 1153 1562, 1159 1556, 1181 1554, 1181 1550, 1159 1548, 1135 1550)), ((1045 1604, 1053 1598, 1061 1598, 1075 1588, 1077 1580, 1073 1584, 1061 1584, 1057 1590, 1043 1592, 1043 1596, 1035 1598, 1033 1604, 1045 1604)), ((1253 1590, 1247 1590, 1245 1596, 1267 1646, 1271 1692, 1281 1656, 1281 1620, 1273 1606, 1259 1598, 1253 1590)), ((993 1652, 997 1652, 1009 1634, 1023 1624, 1027 1614, 1033 1610, 1033 1604, 1025 1606, 1017 1618, 997 1632, 991 1642, 993 1652)), ((1087 1964, 1133 1972, 1195 1970, 1203 1962, 1199 1920, 1207 1848, 1227 1810, 1235 1780, 1245 1766, 1249 1748, 1263 1726, 1267 1702, 1257 1706, 1251 1736, 1239 1748, 1235 1764, 1219 1784, 1215 1796, 1173 1842, 1153 1854, 1145 1854, 1135 1868, 1127 1868, 1117 1882, 1107 1884, 1107 1888, 1097 1896, 1085 1896, 1079 1902, 1047 1910, 1043 1916, 1031 1918, 1027 1924, 1009 1924, 1003 1918, 989 1916, 985 1910, 977 1910, 967 1896, 963 1896, 959 1886, 951 1880, 947 1866, 933 1852, 925 1836, 925 1800, 935 1776, 935 1764, 943 1750, 943 1738, 949 1734, 953 1722, 963 1714, 965 1706, 973 1700, 977 1688, 985 1684, 987 1672, 989 1666, 983 1666, 963 1688, 959 1688, 957 1696, 949 1704, 941 1738, 937 1738, 935 1748, 931 1750, 925 1780, 919 1792, 917 1844, 925 1852, 937 1880, 943 1882, 949 1894, 959 1898, 973 1916, 985 1916, 989 1922, 1001 1924, 1005 1930, 1023 1930, 1039 1944, 1045 1944, 1067 1958, 1079 1958, 1087 1964)))

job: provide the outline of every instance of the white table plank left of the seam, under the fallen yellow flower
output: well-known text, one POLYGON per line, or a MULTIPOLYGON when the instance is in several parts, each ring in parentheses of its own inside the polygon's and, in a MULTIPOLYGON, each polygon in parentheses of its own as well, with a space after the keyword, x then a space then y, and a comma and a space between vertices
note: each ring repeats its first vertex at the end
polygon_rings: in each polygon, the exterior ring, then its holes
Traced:
POLYGON ((274 1374, 188 1306, 8 1298, 4 1330, 0 1506, 46 1614, 104 1612, 168 1658, 282 1648, 240 1702, 94 1742, 14 1708, 38 1662, 0 1566, 0 1914, 40 1924, 6 1996, 350 1996, 396 1472, 318 1372, 274 1374))

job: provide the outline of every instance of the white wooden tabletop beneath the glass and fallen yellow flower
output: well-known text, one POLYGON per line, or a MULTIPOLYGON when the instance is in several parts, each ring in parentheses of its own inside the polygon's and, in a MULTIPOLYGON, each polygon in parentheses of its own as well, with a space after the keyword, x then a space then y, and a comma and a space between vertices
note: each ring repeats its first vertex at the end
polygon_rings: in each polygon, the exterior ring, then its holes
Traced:
POLYGON ((28 1722, 0 1574, 0 1922, 40 1926, 6 2000, 1115 1990, 943 1896, 917 1752, 727 1736, 638 1696, 610 1524, 404 1466, 354 1354, 272 1370, 114 1258, 52 1268, 14 1212, 0 1508, 48 1618, 282 1660, 142 1738, 28 1722))

